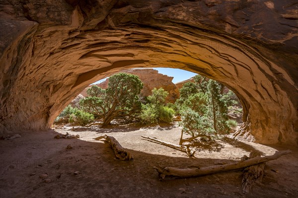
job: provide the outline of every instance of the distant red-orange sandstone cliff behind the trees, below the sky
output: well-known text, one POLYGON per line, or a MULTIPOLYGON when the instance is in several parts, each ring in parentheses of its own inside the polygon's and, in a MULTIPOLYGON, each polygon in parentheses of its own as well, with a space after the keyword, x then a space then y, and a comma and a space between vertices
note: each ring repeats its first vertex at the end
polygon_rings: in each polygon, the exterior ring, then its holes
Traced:
MULTIPOLYGON (((166 102, 174 103, 176 99, 179 98, 179 90, 176 85, 172 82, 173 77, 169 77, 167 75, 159 74, 155 69, 130 69, 130 70, 123 70, 121 72, 134 74, 139 76, 141 81, 144 83, 143 90, 141 92, 142 96, 149 96, 152 94, 151 90, 154 88, 163 88, 165 91, 169 93, 166 98, 166 102)), ((95 84, 102 89, 106 89, 108 87, 109 79, 106 79, 99 84, 95 84)), ((87 89, 91 87, 88 86, 81 92, 81 95, 84 97, 87 96, 87 89)))

